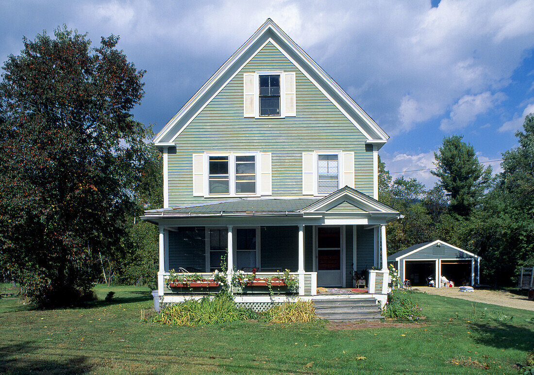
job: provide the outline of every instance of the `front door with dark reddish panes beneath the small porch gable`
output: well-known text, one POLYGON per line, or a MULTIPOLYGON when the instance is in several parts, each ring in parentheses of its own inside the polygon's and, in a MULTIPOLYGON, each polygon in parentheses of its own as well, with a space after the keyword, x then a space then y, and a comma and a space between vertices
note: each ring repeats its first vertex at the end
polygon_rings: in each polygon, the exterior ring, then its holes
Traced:
POLYGON ((317 227, 317 286, 341 285, 341 227, 317 227))

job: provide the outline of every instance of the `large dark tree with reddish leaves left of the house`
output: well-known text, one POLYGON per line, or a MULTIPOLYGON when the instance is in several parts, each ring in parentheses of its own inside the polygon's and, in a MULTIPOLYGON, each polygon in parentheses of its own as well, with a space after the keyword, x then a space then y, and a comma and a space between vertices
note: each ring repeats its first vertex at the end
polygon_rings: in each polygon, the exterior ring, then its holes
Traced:
POLYGON ((40 306, 91 289, 98 252, 123 252, 151 131, 130 110, 139 71, 119 38, 66 27, 10 55, 0 83, 0 266, 40 306))

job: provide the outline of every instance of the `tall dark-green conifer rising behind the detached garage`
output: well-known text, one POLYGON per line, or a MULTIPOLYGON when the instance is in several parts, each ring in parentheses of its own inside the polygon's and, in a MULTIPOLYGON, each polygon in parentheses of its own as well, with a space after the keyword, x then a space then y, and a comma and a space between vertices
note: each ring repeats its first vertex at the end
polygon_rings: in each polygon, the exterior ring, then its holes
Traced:
POLYGON ((434 153, 440 185, 450 193, 452 212, 465 217, 480 202, 484 189, 491 179, 491 166, 485 170, 478 162, 473 146, 462 141, 461 135, 443 139, 439 154, 434 153))

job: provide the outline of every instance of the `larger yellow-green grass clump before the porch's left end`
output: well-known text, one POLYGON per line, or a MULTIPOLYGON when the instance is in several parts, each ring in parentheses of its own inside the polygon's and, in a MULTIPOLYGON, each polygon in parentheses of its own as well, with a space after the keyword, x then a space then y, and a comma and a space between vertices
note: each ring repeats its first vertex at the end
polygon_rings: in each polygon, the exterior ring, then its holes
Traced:
POLYGON ((235 306, 232 297, 219 293, 199 300, 189 299, 164 308, 155 315, 153 322, 170 325, 208 325, 246 320, 250 314, 235 306))

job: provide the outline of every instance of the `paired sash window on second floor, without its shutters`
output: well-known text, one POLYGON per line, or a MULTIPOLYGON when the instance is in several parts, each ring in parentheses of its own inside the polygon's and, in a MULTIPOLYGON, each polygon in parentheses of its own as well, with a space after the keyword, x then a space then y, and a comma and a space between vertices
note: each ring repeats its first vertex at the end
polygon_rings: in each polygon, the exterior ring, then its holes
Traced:
POLYGON ((256 194, 255 155, 209 155, 209 194, 256 194))

